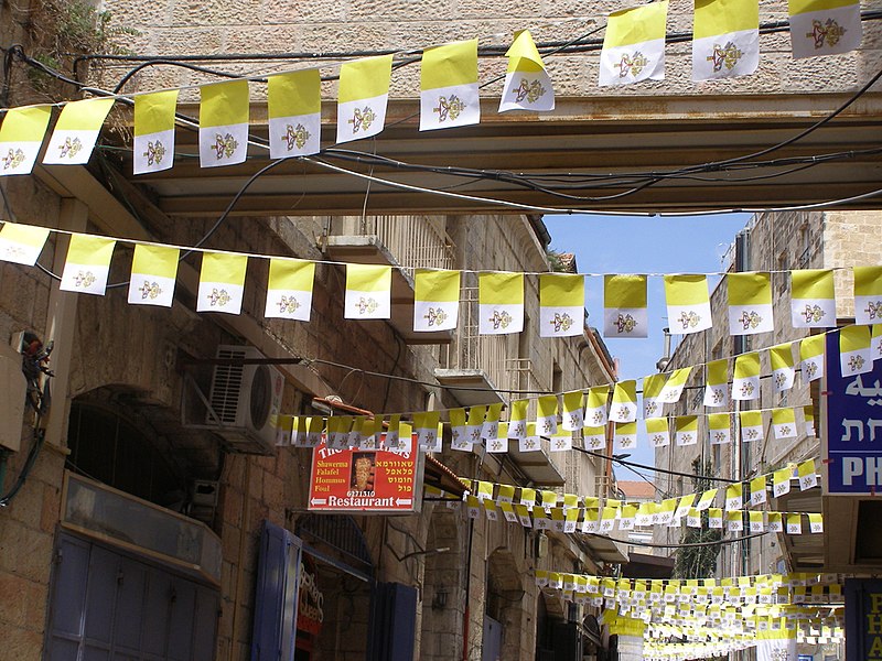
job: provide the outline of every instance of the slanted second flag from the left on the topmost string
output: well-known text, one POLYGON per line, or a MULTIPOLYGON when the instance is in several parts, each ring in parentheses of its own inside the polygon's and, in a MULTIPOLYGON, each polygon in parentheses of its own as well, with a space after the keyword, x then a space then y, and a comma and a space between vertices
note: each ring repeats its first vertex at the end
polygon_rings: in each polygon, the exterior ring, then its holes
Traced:
POLYGON ((43 156, 45 165, 84 165, 92 156, 101 124, 114 99, 95 98, 67 104, 58 116, 43 156))

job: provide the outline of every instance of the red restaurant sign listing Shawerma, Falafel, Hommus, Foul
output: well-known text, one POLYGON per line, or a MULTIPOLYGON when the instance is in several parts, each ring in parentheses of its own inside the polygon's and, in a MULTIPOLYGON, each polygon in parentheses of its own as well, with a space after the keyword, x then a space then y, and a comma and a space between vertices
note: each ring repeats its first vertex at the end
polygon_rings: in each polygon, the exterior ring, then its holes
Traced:
POLYGON ((416 438, 405 447, 331 448, 323 440, 312 452, 311 511, 419 511, 422 502, 423 454, 416 438))

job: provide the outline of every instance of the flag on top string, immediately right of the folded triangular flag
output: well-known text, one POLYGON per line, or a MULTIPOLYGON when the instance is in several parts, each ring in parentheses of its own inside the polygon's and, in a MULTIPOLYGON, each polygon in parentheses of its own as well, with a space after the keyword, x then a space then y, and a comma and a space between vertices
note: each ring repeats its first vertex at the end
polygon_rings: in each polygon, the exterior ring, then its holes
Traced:
POLYGON ((610 14, 600 53, 601 87, 665 78, 667 14, 667 0, 610 14))

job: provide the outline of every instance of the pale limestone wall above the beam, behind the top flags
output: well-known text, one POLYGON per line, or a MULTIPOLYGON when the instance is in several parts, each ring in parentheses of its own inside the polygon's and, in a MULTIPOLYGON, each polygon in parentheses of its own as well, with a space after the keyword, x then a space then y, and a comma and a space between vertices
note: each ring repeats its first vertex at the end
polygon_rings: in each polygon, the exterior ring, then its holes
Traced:
MULTIPOLYGON (((872 3, 871 3, 872 4, 872 3)), ((633 7, 624 0, 585 4, 574 0, 539 3, 493 0, 456 0, 447 3, 428 0, 310 0, 291 6, 268 4, 262 0, 196 3, 161 0, 146 6, 140 0, 110 0, 106 7, 115 20, 141 32, 130 47, 144 55, 224 53, 359 53, 380 50, 404 51, 454 40, 478 37, 481 45, 504 47, 515 30, 529 29, 537 42, 567 42, 578 36, 603 37, 603 25, 612 11, 633 7)), ((786 2, 765 0, 760 4, 761 23, 786 20, 786 2)), ((599 88, 599 52, 549 56, 548 71, 558 94, 566 96, 611 97, 637 95, 730 95, 830 91, 853 89, 880 68, 880 29, 865 22, 863 47, 859 53, 835 57, 794 61, 789 34, 776 32, 760 36, 760 71, 753 75, 701 84, 691 80, 691 44, 669 44, 664 82, 621 88, 599 88)), ((669 7, 669 34, 691 32, 692 3, 673 0, 669 7)), ((271 73, 291 66, 283 63, 223 65, 241 73, 271 73)), ((315 59, 300 61, 314 64, 315 59)), ((115 67, 116 68, 116 67, 115 67)), ((118 67, 121 71, 121 67, 118 67)), ((482 79, 504 74, 502 57, 482 62, 482 79)), ((112 77, 112 75, 111 75, 112 77)), ((186 69, 151 68, 135 82, 135 87, 187 85, 205 78, 186 69)), ((418 65, 394 74, 394 97, 416 97, 419 90, 418 65)), ((487 86, 482 95, 494 96, 501 83, 487 86)), ((330 91, 330 89, 329 89, 330 91)), ((662 108, 659 108, 660 110, 662 108)))

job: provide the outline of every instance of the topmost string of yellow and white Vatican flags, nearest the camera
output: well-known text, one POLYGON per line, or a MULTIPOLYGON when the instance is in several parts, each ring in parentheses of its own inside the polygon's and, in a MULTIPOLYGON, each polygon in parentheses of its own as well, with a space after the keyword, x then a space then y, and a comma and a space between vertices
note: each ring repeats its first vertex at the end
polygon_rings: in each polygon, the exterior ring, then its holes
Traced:
MULTIPOLYGON (((617 86, 665 76, 667 0, 610 14, 600 55, 599 85, 617 86)), ((790 41, 795 58, 856 50, 861 43, 860 2, 790 0, 790 41)), ((757 0, 709 0, 696 4, 692 79, 710 80, 754 73, 760 61, 757 0)), ((555 108, 552 80, 528 30, 518 31, 506 52, 499 112, 555 108)), ((385 127, 392 55, 340 65, 336 142, 370 138, 385 127)), ((135 99, 135 174, 172 167, 180 89, 131 95, 135 99)), ((200 87, 200 165, 241 163, 248 152, 249 88, 246 78, 200 87)), ((116 97, 65 104, 43 163, 84 164, 95 148, 116 97)), ((271 159, 318 153, 321 79, 319 69, 269 76, 271 159)), ((0 176, 29 174, 49 127, 52 105, 7 110, 0 127, 0 176)), ((477 40, 422 48, 420 131, 476 124, 477 40)))

